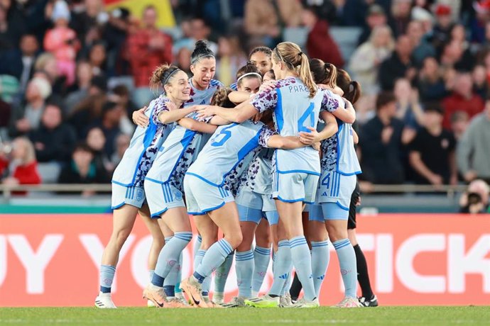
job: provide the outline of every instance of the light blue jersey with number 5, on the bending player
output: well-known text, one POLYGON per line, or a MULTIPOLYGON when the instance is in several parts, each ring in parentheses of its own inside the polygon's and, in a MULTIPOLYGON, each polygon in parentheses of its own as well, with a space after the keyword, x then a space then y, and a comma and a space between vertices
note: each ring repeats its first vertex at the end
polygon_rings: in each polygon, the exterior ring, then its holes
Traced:
POLYGON ((269 137, 274 134, 263 123, 250 120, 221 125, 187 170, 187 174, 217 187, 234 182, 249 166, 259 146, 267 147, 269 137))

